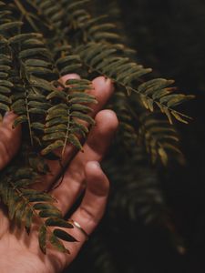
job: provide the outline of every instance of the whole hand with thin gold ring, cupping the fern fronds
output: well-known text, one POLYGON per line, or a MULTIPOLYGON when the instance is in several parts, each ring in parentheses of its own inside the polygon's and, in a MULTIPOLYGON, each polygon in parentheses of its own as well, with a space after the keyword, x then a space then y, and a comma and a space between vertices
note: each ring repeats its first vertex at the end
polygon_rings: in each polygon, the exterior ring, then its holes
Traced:
MULTIPOLYGON (((77 75, 63 76, 62 81, 65 83, 67 79, 77 77, 77 75)), ((110 110, 101 110, 113 92, 110 80, 99 76, 93 80, 93 86, 94 89, 90 93, 96 96, 98 104, 92 106, 91 115, 95 116, 96 126, 91 129, 87 137, 83 147, 84 153, 76 154, 67 167, 62 183, 52 191, 52 195, 57 199, 57 206, 66 215, 77 197, 86 189, 80 206, 71 218, 77 221, 87 234, 91 234, 97 227, 106 207, 109 182, 97 162, 101 161, 105 155, 118 127, 115 113, 110 110)), ((21 128, 18 126, 12 129, 14 119, 15 115, 9 113, 5 115, 0 124, 0 170, 14 157, 20 146, 21 128)), ((67 145, 63 158, 65 164, 74 155, 74 152, 75 148, 67 145)), ((48 165, 52 170, 52 175, 46 175, 43 187, 38 185, 40 190, 49 188, 60 172, 58 162, 48 161, 48 165)), ((11 229, 4 208, 2 205, 0 209, 1 273, 61 272, 77 256, 86 240, 81 230, 77 227, 71 228, 69 233, 78 240, 75 243, 65 243, 71 254, 61 253, 48 246, 47 253, 44 255, 38 247, 36 230, 33 228, 28 236, 24 228, 11 229)))

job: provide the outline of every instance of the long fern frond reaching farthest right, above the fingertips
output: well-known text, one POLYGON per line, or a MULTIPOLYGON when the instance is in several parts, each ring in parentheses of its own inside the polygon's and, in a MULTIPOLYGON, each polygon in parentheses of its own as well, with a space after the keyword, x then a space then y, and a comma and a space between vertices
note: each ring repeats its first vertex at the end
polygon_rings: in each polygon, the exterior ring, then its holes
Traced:
POLYGON ((151 112, 154 111, 156 105, 159 106, 162 113, 168 116, 170 124, 172 124, 172 117, 187 123, 190 117, 179 113, 173 107, 194 96, 172 94, 175 90, 170 87, 173 84, 172 80, 163 78, 149 80, 136 88, 134 86, 141 81, 141 76, 148 74, 151 70, 130 62, 127 57, 118 57, 115 46, 90 42, 87 45, 79 45, 76 52, 90 70, 96 70, 99 74, 111 78, 113 82, 123 86, 128 95, 131 92, 137 93, 143 105, 151 112))

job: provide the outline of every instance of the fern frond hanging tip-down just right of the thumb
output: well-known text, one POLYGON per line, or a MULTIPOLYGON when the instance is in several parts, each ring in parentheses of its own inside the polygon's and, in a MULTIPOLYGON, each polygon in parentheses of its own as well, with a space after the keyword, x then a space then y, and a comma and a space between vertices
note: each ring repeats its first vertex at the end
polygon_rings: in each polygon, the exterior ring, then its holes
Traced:
MULTIPOLYGON (((48 82, 46 83, 46 78, 53 76, 54 73, 52 71, 52 64, 49 61, 49 52, 44 44, 41 43, 41 45, 37 45, 36 47, 33 44, 34 38, 31 39, 30 35, 15 36, 15 39, 18 41, 17 38, 22 40, 21 47, 18 42, 17 47, 20 47, 20 50, 18 51, 14 44, 13 50, 19 59, 20 71, 17 76, 18 83, 15 85, 15 92, 12 96, 12 109, 19 115, 15 120, 15 126, 19 123, 27 122, 33 145, 35 137, 35 133, 33 132, 39 129, 42 130, 44 127, 42 116, 46 114, 46 110, 50 106, 49 102, 46 101, 45 92, 42 91, 45 91, 43 89, 44 86, 46 86, 46 93, 48 86, 51 90, 54 89, 48 82), (33 60, 34 56, 36 57, 35 60, 33 60), (45 63, 47 67, 45 67, 45 63), (41 77, 44 77, 44 80, 41 77), (35 82, 38 85, 40 82, 43 82, 44 86, 37 87, 35 82), (41 119, 39 119, 39 115, 41 115, 41 119), (33 120, 36 120, 35 116, 39 119, 37 123, 33 122, 33 120)), ((35 40, 40 42, 39 35, 36 35, 35 40)))

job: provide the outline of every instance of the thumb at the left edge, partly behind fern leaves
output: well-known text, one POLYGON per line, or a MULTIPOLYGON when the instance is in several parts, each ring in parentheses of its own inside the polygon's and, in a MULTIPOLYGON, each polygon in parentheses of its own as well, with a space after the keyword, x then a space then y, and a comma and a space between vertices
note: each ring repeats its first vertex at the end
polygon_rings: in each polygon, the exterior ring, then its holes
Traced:
POLYGON ((15 156, 21 139, 21 126, 13 128, 15 114, 5 114, 0 125, 0 170, 15 156))

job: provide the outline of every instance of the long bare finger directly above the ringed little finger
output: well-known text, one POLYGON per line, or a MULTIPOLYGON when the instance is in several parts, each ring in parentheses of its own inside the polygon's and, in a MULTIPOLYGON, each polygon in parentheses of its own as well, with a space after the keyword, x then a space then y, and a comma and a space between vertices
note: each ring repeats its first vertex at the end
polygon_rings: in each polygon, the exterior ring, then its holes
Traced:
POLYGON ((87 162, 102 160, 117 128, 118 118, 113 111, 102 110, 97 114, 96 126, 87 138, 83 147, 84 153, 77 154, 67 168, 63 182, 52 192, 63 214, 67 213, 85 187, 84 169, 87 162))

